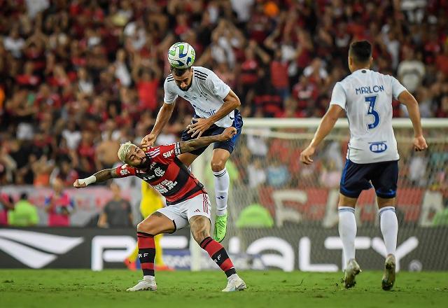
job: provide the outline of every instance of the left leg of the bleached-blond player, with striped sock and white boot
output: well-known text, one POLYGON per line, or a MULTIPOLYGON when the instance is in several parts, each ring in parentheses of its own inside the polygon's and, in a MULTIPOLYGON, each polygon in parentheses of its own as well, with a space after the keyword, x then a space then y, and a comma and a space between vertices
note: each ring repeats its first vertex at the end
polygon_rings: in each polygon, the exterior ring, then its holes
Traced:
POLYGON ((175 230, 173 221, 157 211, 137 225, 137 244, 143 279, 127 291, 157 290, 154 272, 154 236, 175 230))

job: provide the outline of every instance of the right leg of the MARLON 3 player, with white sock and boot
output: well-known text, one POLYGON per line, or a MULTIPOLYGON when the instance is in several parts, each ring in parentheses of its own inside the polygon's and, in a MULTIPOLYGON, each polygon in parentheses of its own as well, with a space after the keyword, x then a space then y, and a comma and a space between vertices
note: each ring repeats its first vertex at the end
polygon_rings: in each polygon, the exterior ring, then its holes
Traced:
POLYGON ((398 219, 395 214, 395 198, 377 197, 379 207, 379 225, 386 246, 386 261, 381 280, 383 290, 391 290, 395 283, 395 250, 397 248, 398 219))

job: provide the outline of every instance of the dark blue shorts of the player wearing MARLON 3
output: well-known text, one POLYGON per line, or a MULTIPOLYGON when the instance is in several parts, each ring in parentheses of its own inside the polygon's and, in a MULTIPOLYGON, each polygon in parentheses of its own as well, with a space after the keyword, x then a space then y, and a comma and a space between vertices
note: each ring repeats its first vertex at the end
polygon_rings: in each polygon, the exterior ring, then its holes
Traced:
POLYGON ((356 164, 346 160, 341 176, 339 192, 350 198, 358 198, 361 191, 372 188, 377 196, 391 199, 397 195, 398 160, 356 164))

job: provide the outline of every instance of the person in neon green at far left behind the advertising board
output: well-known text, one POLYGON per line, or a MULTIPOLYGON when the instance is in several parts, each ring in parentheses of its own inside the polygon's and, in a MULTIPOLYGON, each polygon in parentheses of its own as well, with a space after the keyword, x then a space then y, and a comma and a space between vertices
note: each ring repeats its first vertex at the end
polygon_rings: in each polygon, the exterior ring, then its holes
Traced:
POLYGON ((8 211, 8 225, 14 227, 31 227, 37 225, 39 216, 34 204, 28 201, 27 193, 20 195, 20 200, 15 202, 14 209, 8 211))

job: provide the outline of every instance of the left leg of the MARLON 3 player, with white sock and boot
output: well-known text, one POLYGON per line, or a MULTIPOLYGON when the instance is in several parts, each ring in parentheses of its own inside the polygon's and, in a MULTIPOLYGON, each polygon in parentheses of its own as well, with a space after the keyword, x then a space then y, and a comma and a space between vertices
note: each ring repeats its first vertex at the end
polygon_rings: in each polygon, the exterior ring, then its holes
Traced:
POLYGON ((351 288, 356 284, 356 275, 361 272, 355 260, 356 218, 355 205, 357 198, 339 195, 339 237, 342 240, 342 251, 346 268, 344 270, 344 286, 351 288))

